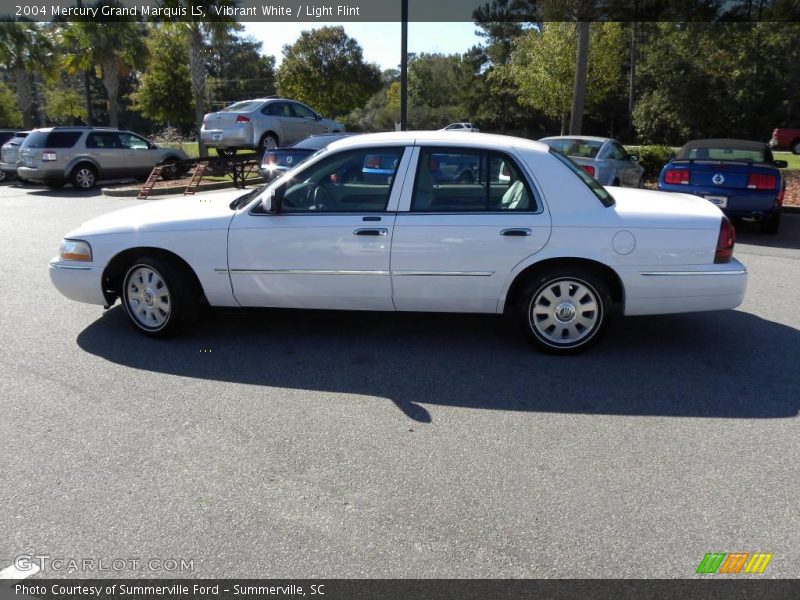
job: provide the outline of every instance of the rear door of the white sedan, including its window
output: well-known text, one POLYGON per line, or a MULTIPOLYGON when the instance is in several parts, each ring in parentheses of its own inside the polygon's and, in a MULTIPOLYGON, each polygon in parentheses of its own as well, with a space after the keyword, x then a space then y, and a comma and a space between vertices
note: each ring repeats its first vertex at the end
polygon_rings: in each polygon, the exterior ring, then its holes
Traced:
POLYGON ((550 236, 541 196, 520 165, 506 151, 415 149, 392 238, 397 310, 498 310, 511 271, 550 236), (478 165, 473 181, 438 173, 469 162, 478 165))

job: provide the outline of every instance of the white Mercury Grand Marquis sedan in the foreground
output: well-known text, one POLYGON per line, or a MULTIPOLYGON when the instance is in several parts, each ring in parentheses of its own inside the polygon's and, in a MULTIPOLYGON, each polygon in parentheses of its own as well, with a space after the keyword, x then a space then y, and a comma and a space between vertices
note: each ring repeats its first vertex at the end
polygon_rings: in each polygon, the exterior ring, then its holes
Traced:
POLYGON ((604 188, 539 142, 406 132, 334 142, 245 195, 93 219, 50 275, 72 300, 119 298, 157 337, 204 306, 509 312, 539 348, 570 353, 614 312, 738 306, 733 245, 696 196, 604 188))

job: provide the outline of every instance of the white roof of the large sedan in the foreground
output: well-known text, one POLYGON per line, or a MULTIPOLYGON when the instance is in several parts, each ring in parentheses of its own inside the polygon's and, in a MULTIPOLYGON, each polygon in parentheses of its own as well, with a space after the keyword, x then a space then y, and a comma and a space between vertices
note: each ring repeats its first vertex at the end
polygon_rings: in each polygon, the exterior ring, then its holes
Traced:
POLYGON ((383 133, 365 133, 336 140, 331 143, 328 148, 338 150, 348 147, 356 148, 369 145, 389 145, 391 143, 405 145, 432 143, 449 146, 452 145, 453 142, 463 142, 464 146, 499 146, 501 148, 524 148, 536 150, 538 152, 550 151, 550 147, 547 144, 542 144, 534 140, 494 133, 467 133, 461 131, 387 131, 383 133))

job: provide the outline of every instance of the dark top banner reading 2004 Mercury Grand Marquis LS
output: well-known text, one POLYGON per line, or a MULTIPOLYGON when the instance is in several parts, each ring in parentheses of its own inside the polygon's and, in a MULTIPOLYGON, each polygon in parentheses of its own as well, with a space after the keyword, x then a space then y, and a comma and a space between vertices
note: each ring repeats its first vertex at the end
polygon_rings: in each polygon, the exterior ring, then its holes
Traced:
MULTIPOLYGON (((32 21, 397 22, 400 0, 0 0, 0 17, 32 21)), ((794 22, 793 0, 408 0, 426 22, 794 22)))

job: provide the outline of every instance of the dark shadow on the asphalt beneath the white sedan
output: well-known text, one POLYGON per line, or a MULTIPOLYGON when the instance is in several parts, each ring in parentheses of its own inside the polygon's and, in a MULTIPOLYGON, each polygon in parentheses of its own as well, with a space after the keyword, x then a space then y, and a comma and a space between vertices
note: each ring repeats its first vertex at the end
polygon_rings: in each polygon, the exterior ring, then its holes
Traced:
POLYGON ((77 339, 142 371, 423 405, 606 415, 785 418, 800 405, 800 331, 739 312, 633 317, 588 352, 541 354, 495 316, 225 311, 152 340, 120 306, 77 339))

